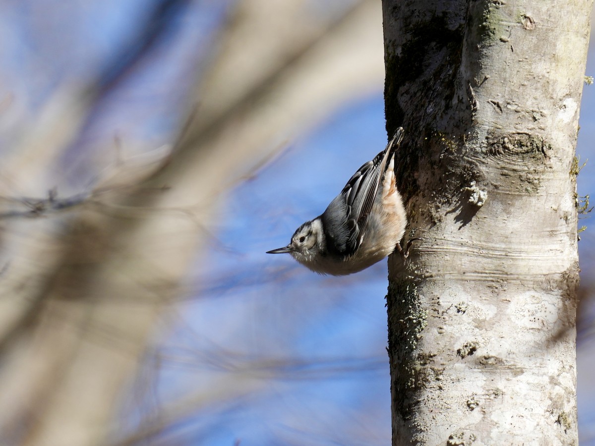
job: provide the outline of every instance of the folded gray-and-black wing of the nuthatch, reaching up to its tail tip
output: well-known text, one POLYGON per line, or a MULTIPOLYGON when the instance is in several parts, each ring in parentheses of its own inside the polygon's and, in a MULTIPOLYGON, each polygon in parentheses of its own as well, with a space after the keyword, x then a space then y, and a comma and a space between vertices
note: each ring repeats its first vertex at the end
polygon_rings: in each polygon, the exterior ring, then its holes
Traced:
POLYGON ((386 149, 353 174, 322 214, 327 246, 340 255, 352 255, 361 244, 390 155, 402 140, 403 128, 399 127, 386 149))

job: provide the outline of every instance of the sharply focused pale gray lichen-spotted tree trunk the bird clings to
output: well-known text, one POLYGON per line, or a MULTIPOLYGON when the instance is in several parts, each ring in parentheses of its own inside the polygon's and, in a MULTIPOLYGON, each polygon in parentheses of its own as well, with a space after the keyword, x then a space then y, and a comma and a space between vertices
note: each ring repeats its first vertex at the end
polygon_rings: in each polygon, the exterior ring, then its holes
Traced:
POLYGON ((414 244, 389 262, 394 445, 578 444, 575 143, 592 0, 383 0, 414 244))

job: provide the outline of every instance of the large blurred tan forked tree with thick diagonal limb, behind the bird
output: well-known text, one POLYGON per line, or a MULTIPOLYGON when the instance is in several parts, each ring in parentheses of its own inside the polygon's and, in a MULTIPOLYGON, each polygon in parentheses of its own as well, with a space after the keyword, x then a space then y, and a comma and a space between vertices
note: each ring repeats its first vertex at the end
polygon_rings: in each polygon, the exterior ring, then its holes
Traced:
MULTIPOLYGON (((11 187, 3 187, 0 205, 3 444, 98 445, 116 435, 123 386, 208 241, 205 228, 224 191, 280 142, 383 78, 376 2, 318 20, 302 2, 238 2, 173 149, 148 147, 148 160, 124 159, 113 172, 98 172, 88 191, 48 193, 52 166, 96 101, 161 39, 171 20, 159 19, 161 12, 186 3, 156 4, 130 46, 136 51, 118 55, 90 87, 58 90, 5 156, 11 187), (183 212, 170 212, 176 209, 183 212)), ((230 398, 250 391, 228 384, 230 398)))

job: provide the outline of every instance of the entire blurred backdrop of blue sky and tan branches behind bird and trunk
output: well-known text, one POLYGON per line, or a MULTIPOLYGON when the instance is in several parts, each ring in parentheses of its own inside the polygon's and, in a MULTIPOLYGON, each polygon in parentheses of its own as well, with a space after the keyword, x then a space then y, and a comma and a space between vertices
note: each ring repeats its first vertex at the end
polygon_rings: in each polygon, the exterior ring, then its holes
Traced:
POLYGON ((0 442, 390 444, 386 262, 265 255, 386 144, 380 2, 7 0, 0 35, 0 442))

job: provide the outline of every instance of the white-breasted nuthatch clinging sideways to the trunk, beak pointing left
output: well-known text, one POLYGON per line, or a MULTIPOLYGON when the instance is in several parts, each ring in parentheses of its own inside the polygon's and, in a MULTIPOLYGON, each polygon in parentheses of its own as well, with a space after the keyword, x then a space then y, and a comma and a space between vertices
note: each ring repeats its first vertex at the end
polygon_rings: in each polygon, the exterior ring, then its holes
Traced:
POLYGON ((361 271, 394 249, 405 258, 400 240, 407 217, 394 174, 394 152, 402 139, 399 127, 386 149, 353 174, 322 215, 297 228, 286 247, 267 253, 290 253, 312 271, 331 275, 361 271))

